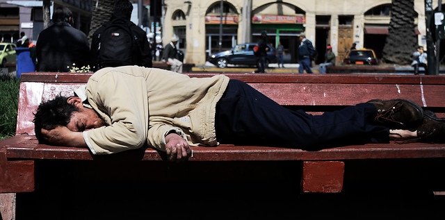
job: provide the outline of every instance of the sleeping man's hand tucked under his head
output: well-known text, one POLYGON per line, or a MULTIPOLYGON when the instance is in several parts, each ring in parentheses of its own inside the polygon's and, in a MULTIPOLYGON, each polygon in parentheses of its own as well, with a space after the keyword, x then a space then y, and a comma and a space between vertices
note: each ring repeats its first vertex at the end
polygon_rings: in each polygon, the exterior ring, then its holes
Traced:
POLYGON ((43 139, 51 145, 86 147, 81 132, 73 132, 65 126, 58 126, 52 130, 42 128, 43 139))

